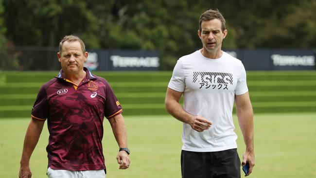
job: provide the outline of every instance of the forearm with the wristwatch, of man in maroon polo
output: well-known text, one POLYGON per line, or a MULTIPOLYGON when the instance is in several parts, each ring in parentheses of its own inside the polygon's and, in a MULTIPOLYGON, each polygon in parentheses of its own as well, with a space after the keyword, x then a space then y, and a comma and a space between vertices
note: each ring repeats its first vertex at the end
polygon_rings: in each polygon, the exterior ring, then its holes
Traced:
POLYGON ((116 142, 120 148, 127 147, 127 133, 124 118, 122 114, 109 118, 110 125, 115 137, 116 142))

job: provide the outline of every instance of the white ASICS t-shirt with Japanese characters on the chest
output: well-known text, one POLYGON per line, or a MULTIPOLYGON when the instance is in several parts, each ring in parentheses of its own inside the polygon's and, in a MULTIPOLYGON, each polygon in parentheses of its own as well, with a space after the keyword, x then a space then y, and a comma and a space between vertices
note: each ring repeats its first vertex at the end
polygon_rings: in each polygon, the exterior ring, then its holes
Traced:
POLYGON ((232 119, 235 95, 248 91, 242 62, 228 53, 210 59, 199 51, 181 57, 168 87, 183 92, 183 108, 212 122, 197 132, 183 123, 182 150, 213 152, 237 148, 232 119))

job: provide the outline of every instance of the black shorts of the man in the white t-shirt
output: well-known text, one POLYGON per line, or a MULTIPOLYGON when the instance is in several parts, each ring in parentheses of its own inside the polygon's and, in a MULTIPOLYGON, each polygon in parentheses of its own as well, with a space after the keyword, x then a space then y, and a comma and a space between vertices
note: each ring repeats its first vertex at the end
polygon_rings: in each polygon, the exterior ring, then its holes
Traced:
POLYGON ((216 152, 181 152, 182 178, 240 178, 237 148, 216 152))

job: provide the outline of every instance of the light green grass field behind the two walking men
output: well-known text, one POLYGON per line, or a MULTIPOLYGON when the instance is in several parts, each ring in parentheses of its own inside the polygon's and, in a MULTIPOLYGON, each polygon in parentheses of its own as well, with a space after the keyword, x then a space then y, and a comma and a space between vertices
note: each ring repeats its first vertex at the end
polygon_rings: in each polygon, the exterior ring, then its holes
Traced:
MULTIPOLYGON (((250 178, 315 178, 316 113, 255 114, 256 165, 250 178)), ((17 178, 28 118, 0 119, 0 178, 17 178)), ((234 117, 237 124, 237 119, 234 117)), ((182 124, 171 116, 125 116, 131 166, 119 170, 118 146, 105 122, 106 178, 180 178, 182 124)), ((239 156, 245 149, 239 126, 239 156)), ((46 178, 45 126, 31 159, 33 178, 46 178)), ((243 176, 242 176, 243 177, 243 176)))

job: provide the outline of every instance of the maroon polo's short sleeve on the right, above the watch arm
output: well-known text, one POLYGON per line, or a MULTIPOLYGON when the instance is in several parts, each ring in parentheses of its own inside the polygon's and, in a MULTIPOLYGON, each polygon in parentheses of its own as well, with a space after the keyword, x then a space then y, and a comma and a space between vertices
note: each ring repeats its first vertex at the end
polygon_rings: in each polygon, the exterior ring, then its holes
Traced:
POLYGON ((106 118, 114 117, 123 112, 120 102, 117 100, 113 90, 108 82, 105 82, 105 108, 104 116, 106 118))

